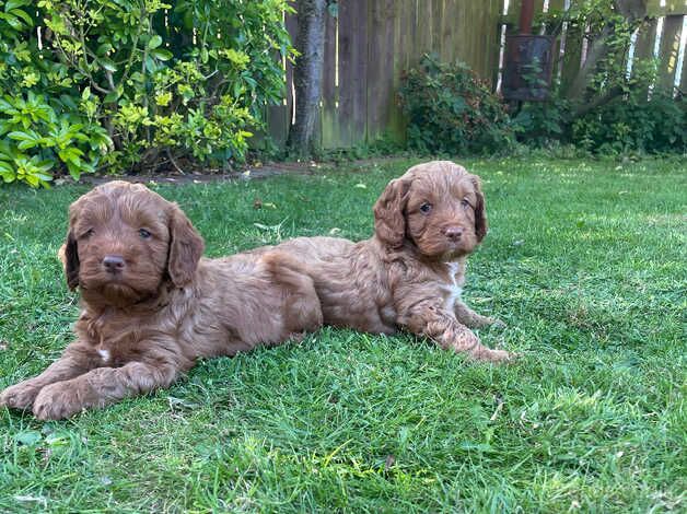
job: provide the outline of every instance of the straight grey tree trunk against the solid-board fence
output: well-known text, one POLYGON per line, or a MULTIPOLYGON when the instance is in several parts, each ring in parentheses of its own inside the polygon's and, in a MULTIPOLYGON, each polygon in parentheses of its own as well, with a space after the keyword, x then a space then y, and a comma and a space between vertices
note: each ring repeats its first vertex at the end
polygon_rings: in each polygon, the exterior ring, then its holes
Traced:
POLYGON ((296 11, 295 49, 300 55, 293 71, 295 118, 289 130, 287 148, 293 156, 307 157, 318 147, 315 121, 322 97, 327 0, 298 0, 296 11))

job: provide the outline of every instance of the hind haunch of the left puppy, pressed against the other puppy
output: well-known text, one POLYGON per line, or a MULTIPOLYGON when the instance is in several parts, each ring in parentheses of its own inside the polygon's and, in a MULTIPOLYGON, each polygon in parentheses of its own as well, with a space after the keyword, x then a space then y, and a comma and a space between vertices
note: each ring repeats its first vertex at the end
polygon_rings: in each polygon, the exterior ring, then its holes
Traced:
POLYGON ((279 250, 266 252, 260 256, 260 260, 273 282, 284 292, 289 330, 291 332, 313 331, 322 327, 322 306, 307 266, 298 258, 279 250))

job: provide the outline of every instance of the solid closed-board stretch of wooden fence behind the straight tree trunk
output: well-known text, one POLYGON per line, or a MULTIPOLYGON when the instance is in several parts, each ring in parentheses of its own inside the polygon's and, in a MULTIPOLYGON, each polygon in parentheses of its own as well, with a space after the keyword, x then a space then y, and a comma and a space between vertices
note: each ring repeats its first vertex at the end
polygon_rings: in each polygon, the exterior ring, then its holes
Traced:
MULTIPOLYGON (((404 70, 428 51, 461 59, 496 79, 503 0, 339 0, 327 14, 321 136, 324 148, 349 148, 381 137, 404 138, 396 92, 404 70), (333 15, 336 14, 336 15, 333 15)), ((298 17, 288 16, 293 39, 298 17)), ((268 112, 269 132, 286 140, 293 106, 293 70, 287 101, 268 112)))

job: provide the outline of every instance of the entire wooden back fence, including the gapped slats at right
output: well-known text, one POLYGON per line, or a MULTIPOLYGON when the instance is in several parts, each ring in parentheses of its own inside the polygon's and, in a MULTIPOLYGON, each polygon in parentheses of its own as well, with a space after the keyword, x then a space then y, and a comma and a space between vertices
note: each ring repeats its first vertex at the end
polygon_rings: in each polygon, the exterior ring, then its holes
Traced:
MULTIPOLYGON (((608 0, 610 1, 610 0, 608 0)), ((521 0, 339 0, 327 14, 319 135, 325 149, 350 148, 379 138, 403 140, 396 93, 405 70, 433 51, 462 60, 499 85, 503 35, 514 31, 521 0)), ((535 0, 535 13, 564 9, 569 0, 535 0)), ((655 56, 659 84, 687 93, 687 0, 649 0, 650 21, 637 35, 633 59, 655 56)), ((295 39, 298 15, 286 20, 295 39)), ((535 33, 540 27, 535 26, 535 33)), ((571 81, 584 62, 584 34, 563 30, 555 77, 571 81)), ((631 72, 632 61, 628 71, 631 72)), ((283 144, 292 119, 293 70, 287 67, 287 98, 268 110, 269 133, 283 144)))

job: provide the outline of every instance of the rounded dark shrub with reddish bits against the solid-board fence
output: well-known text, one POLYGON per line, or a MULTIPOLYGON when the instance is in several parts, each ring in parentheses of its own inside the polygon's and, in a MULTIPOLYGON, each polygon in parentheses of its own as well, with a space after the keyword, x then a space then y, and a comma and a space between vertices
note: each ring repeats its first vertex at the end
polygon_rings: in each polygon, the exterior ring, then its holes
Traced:
POLYGON ((408 143, 422 152, 485 153, 512 147, 501 98, 464 63, 426 55, 399 93, 408 116, 408 143))

